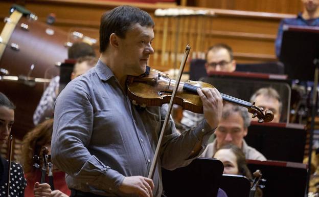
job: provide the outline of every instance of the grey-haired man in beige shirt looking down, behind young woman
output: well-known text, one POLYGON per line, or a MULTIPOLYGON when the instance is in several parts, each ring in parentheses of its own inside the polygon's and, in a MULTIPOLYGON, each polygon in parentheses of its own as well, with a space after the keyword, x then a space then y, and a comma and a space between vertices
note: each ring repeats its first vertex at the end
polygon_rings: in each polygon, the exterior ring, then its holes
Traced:
POLYGON ((220 147, 233 144, 244 152, 247 159, 266 160, 258 150, 248 146, 244 140, 249 125, 250 116, 246 108, 226 103, 215 131, 216 139, 207 146, 201 157, 211 158, 220 147))

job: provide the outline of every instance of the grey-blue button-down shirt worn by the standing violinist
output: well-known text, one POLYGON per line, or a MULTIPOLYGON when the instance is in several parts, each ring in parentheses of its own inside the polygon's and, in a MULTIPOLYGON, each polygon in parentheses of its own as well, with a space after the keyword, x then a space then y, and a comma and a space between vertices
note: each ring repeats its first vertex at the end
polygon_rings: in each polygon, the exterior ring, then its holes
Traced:
MULTIPOLYGON (((118 188, 127 176, 148 176, 167 105, 136 110, 112 71, 100 60, 71 81, 54 109, 51 154, 67 173, 69 188, 107 196, 128 196, 118 188)), ((153 182, 162 193, 161 167, 188 165, 194 145, 202 150, 214 131, 206 121, 178 135, 172 119, 166 129, 153 182)))

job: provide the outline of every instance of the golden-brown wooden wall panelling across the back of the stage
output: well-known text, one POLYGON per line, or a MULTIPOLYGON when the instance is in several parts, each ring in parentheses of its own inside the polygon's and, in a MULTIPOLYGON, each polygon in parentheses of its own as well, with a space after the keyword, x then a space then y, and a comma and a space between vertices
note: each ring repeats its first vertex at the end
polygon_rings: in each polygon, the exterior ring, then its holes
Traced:
MULTIPOLYGON (((248 0, 243 0, 244 3, 248 0)), ((202 3, 218 1, 202 1, 202 3)), ((266 3, 263 3, 266 4, 266 3)), ((8 16, 11 3, 0 2, 0 20, 8 16)), ((72 1, 72 0, 29 0, 26 8, 36 13, 40 21, 45 21, 50 13, 56 15, 54 26, 66 32, 80 31, 86 36, 99 39, 99 21, 102 13, 121 3, 102 1, 72 1)), ((293 15, 243 12, 233 10, 211 9, 214 17, 190 16, 190 17, 154 17, 157 8, 148 4, 133 4, 149 12, 155 21, 155 39, 153 47, 154 57, 150 65, 158 70, 173 68, 179 62, 175 62, 175 53, 180 58, 187 43, 192 47, 191 57, 203 57, 204 51, 217 42, 229 44, 235 52, 235 58, 239 62, 260 62, 276 60, 274 41, 277 34, 279 21, 283 17, 293 15), (165 20, 168 22, 166 40, 163 40, 165 20), (176 34, 178 37, 176 38, 176 34), (163 43, 166 45, 163 49, 163 43), (165 53, 163 53, 165 52, 165 53)), ((220 7, 237 5, 233 1, 220 1, 220 7)), ((165 8, 165 6, 160 6, 165 8)), ((199 9, 188 7, 191 9, 199 9)), ((236 7, 233 7, 236 8, 236 7)), ((3 23, 0 23, 3 27, 3 23)), ((96 46, 98 50, 98 46, 96 46)), ((186 68, 188 70, 188 68, 186 68)))

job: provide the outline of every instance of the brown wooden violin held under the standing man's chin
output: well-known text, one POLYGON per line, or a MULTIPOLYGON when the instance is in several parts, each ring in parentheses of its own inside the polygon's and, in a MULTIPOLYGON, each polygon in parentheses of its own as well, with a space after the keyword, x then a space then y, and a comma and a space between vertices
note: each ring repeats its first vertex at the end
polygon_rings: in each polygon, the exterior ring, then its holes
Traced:
MULTIPOLYGON (((146 72, 141 76, 128 76, 127 94, 133 104, 142 107, 148 105, 161 106, 170 102, 175 83, 176 81, 169 78, 168 74, 147 67, 146 72)), ((184 110, 202 114, 203 104, 197 94, 197 89, 204 87, 215 88, 213 85, 202 81, 180 82, 173 103, 180 105, 184 110)), ((263 108, 258 108, 255 103, 223 93, 220 93, 220 95, 224 101, 246 107, 248 112, 253 114, 253 118, 258 118, 258 122, 270 122, 274 119, 273 112, 267 110, 264 113, 263 108)))

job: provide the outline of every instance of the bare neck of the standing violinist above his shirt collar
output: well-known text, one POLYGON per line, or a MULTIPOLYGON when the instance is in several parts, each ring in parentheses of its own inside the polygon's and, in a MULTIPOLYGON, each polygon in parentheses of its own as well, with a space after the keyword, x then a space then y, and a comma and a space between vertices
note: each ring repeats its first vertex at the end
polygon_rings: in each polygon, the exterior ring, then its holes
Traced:
POLYGON ((124 68, 118 64, 114 58, 110 58, 111 55, 101 54, 100 60, 107 65, 107 67, 113 72, 115 78, 119 81, 123 92, 126 92, 126 78, 127 75, 124 72, 124 68))

